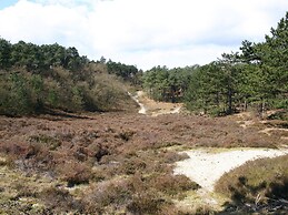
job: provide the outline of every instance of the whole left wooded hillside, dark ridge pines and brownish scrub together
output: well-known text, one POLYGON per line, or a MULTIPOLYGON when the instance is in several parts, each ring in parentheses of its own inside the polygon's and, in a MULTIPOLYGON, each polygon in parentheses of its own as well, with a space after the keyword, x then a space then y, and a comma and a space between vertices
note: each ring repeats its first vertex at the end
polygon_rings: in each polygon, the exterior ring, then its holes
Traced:
POLYGON ((122 80, 136 83, 138 69, 121 64, 118 72, 113 64, 111 60, 90 61, 76 48, 57 43, 11 44, 0 39, 0 114, 127 109, 131 102, 122 80))

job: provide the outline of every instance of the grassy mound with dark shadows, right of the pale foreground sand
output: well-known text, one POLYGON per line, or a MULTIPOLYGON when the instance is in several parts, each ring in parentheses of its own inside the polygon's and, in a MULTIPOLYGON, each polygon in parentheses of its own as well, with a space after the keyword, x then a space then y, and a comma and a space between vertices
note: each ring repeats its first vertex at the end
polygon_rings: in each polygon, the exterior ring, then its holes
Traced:
POLYGON ((270 213, 288 209, 288 155, 261 158, 225 174, 216 191, 230 197, 228 207, 242 207, 242 212, 270 213))

